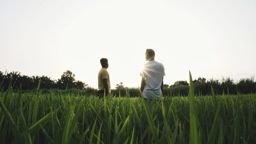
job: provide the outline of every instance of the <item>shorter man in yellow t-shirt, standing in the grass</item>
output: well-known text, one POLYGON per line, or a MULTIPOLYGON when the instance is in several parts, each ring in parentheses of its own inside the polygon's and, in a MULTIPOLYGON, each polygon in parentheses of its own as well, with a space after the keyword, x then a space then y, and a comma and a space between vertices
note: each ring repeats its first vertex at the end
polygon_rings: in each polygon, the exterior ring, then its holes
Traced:
POLYGON ((110 94, 110 79, 109 79, 109 72, 107 71, 107 68, 109 68, 108 59, 102 58, 100 59, 101 69, 98 74, 98 96, 102 98, 104 96, 104 90, 105 90, 105 96, 110 94))

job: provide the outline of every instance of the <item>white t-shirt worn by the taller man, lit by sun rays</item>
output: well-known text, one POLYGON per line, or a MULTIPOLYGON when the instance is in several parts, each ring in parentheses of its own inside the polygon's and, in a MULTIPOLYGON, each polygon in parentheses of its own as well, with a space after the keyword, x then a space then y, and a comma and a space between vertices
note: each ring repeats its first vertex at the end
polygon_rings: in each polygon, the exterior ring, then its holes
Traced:
POLYGON ((161 97, 161 84, 165 76, 164 65, 157 61, 148 61, 143 65, 140 76, 146 78, 143 96, 152 99, 161 97))

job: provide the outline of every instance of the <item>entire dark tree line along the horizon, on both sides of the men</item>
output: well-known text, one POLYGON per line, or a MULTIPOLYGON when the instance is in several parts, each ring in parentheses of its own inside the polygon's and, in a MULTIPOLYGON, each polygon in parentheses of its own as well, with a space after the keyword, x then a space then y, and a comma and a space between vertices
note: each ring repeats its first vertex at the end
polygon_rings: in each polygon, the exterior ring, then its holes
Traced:
MULTIPOLYGON (((66 70, 58 80, 52 80, 48 76, 27 76, 21 75, 18 71, 10 73, 3 73, 0 71, 0 85, 1 89, 7 90, 11 86, 14 90, 33 90, 37 88, 40 80, 40 89, 43 92, 49 90, 68 90, 69 92, 75 92, 88 95, 95 95, 97 88, 89 87, 82 81, 75 80, 75 74, 66 70)), ((254 76, 251 78, 241 78, 238 81, 230 77, 222 77, 222 79, 210 79, 206 80, 204 77, 198 77, 193 80, 194 91, 196 95, 210 95, 211 88, 215 94, 250 94, 256 93, 256 81, 254 76)), ((187 96, 189 92, 189 83, 187 81, 176 81, 173 85, 164 84, 163 95, 168 96, 187 96)), ((129 94, 131 97, 136 97, 140 94, 139 87, 124 87, 124 84, 120 82, 116 84, 114 89, 111 89, 111 93, 116 96, 126 96, 129 94)))

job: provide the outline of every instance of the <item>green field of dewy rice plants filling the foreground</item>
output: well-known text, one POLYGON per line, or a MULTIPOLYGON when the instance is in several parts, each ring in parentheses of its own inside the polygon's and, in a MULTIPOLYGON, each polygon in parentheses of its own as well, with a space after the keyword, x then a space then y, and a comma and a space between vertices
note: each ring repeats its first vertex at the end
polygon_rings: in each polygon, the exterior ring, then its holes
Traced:
POLYGON ((0 91, 0 143, 255 143, 256 94, 144 98, 0 91))

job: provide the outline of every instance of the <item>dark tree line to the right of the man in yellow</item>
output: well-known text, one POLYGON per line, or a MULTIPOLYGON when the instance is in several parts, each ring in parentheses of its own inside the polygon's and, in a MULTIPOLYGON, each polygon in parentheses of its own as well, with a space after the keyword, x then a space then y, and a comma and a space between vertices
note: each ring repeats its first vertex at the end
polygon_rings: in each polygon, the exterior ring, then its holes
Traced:
MULTIPOLYGON (((211 95, 211 92, 218 95, 236 95, 256 93, 256 81, 254 76, 251 78, 241 78, 236 81, 230 77, 222 77, 222 79, 209 79, 198 77, 193 80, 194 92, 196 95, 211 95)), ((131 97, 140 94, 139 88, 124 87, 121 82, 116 84, 116 89, 111 90, 111 93, 120 96, 125 96, 129 93, 131 97)), ((163 96, 188 96, 189 83, 187 81, 176 81, 173 85, 164 84, 163 96)))

